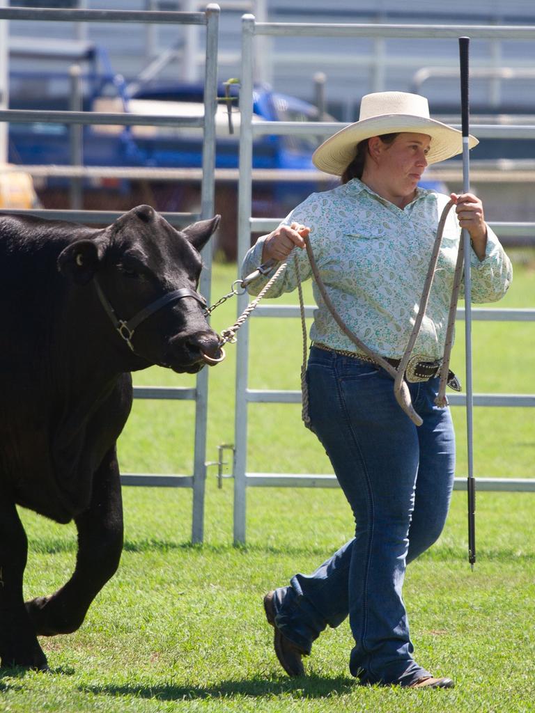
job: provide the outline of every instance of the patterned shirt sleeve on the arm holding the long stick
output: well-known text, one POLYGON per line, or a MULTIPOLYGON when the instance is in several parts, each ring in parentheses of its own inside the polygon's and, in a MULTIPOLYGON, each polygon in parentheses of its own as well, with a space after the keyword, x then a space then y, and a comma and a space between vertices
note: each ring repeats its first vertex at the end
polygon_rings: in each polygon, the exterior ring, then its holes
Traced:
POLYGON ((488 225, 483 260, 479 260, 474 250, 470 250, 470 277, 472 302, 497 302, 504 297, 513 280, 511 260, 488 225))

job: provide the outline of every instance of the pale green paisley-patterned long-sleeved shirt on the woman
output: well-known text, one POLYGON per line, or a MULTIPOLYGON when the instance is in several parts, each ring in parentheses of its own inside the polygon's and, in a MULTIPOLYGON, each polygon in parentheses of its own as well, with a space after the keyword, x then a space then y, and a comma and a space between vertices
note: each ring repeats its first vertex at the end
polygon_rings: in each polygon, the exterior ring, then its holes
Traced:
MULTIPOLYGON (((374 352, 401 358, 412 332, 422 297, 439 217, 449 196, 417 189, 401 209, 354 178, 324 193, 312 193, 283 220, 310 227, 310 245, 320 275, 347 327, 374 352)), ((449 300, 461 230, 454 207, 449 211, 437 271, 414 354, 439 359, 444 352, 449 300)), ((243 262, 248 275, 262 262, 260 237, 243 262)), ((306 250, 295 248, 302 280, 311 277, 306 250)), ((292 254, 293 254, 292 253, 292 254)), ((486 254, 470 255, 472 302, 494 302, 511 284, 512 268, 494 232, 488 229, 486 254)), ((272 271, 273 272, 273 271, 272 271)), ((270 272, 250 284, 258 294, 270 272)), ((297 286, 292 256, 282 277, 267 294, 278 297, 297 286)), ((313 284, 317 309, 310 330, 313 342, 356 352, 355 344, 337 326, 313 284)))

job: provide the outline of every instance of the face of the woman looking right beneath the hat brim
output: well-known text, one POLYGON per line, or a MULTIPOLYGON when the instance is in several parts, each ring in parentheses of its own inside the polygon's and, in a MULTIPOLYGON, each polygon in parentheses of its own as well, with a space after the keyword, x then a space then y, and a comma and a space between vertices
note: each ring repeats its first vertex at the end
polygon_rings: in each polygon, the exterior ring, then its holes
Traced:
POLYGON ((368 144, 374 163, 376 180, 392 198, 414 195, 422 173, 427 167, 431 137, 420 133, 400 133, 392 143, 383 143, 374 136, 368 144))

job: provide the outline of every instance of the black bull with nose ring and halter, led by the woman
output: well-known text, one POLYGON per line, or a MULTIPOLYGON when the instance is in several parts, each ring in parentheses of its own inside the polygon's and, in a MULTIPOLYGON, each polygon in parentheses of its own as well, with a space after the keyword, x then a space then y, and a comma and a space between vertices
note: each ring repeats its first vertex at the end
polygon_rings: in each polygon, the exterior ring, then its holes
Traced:
POLYGON ((45 670, 37 636, 75 631, 123 545, 116 441, 129 372, 198 371, 220 340, 196 292, 220 216, 175 230, 148 205, 92 230, 0 215, 0 657, 45 670), (76 568, 24 603, 16 504, 78 529, 76 568))

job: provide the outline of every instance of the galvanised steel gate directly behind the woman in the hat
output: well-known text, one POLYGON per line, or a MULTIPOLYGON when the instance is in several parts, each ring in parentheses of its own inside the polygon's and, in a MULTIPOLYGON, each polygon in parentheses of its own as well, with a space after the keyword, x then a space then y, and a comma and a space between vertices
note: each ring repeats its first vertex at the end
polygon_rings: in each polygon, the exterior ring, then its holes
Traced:
MULTIPOLYGON (((453 26, 453 25, 388 25, 388 24, 290 24, 256 22, 253 15, 243 16, 242 27, 242 76, 240 89, 240 190, 238 205, 238 266, 250 245, 251 232, 269 232, 277 227, 280 219, 267 220, 251 217, 251 182, 253 138, 263 134, 295 135, 311 133, 325 138, 342 128, 343 123, 307 123, 266 121, 253 123, 253 42, 258 36, 330 36, 367 38, 451 38, 456 42, 460 36, 472 39, 533 39, 534 26, 453 26)), ((457 127, 460 128, 460 127, 457 127)), ((535 126, 474 125, 472 131, 479 138, 535 138, 535 126)), ((491 223, 498 235, 511 230, 515 235, 535 235, 535 223, 491 223)), ((238 297, 238 314, 248 302, 246 294, 238 297)), ((307 317, 312 317, 313 307, 307 307, 307 317)), ((253 312, 258 317, 298 317, 297 307, 262 305, 253 312)), ((472 319, 535 321, 535 309, 471 309, 472 319)), ((464 310, 459 309, 459 318, 464 310)), ((245 323, 238 338, 236 366, 236 414, 235 414, 235 466, 234 466, 234 540, 245 542, 246 491, 248 487, 307 486, 337 487, 333 475, 302 475, 290 473, 250 473, 247 471, 248 405, 250 403, 287 403, 301 401, 300 391, 265 391, 248 388, 249 330, 245 323)), ((452 406, 465 405, 465 394, 448 396, 452 406)), ((474 406, 535 406, 535 394, 474 394, 474 406)), ((465 478, 456 478, 457 490, 466 488, 465 478)), ((529 478, 477 478, 479 490, 535 491, 535 480, 529 478)))

